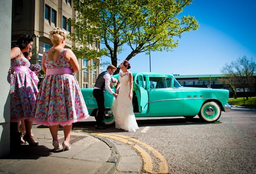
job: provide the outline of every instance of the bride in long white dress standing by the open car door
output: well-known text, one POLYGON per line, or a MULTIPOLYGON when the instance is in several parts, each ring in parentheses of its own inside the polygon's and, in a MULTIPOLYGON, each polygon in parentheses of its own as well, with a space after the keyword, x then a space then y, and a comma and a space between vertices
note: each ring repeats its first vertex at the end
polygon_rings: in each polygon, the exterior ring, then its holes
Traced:
POLYGON ((113 115, 116 129, 135 132, 139 127, 132 106, 133 77, 131 72, 128 71, 130 68, 131 65, 127 60, 124 60, 120 65, 122 72, 119 73, 119 82, 116 85, 118 96, 113 105, 113 115))

